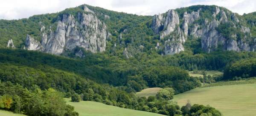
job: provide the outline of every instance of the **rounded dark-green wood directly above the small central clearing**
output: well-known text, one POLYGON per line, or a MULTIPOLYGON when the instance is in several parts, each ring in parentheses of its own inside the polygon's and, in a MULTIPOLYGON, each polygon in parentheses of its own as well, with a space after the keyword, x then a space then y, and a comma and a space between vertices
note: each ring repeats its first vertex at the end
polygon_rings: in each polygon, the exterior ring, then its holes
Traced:
POLYGON ((176 93, 200 86, 196 78, 190 78, 185 70, 177 67, 151 67, 145 70, 143 78, 149 87, 173 87, 176 93))

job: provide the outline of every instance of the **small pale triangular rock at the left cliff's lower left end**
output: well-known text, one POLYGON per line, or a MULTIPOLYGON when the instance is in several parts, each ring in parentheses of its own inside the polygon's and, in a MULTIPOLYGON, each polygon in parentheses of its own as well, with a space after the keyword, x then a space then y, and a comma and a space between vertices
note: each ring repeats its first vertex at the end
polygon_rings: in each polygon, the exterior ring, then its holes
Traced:
POLYGON ((30 35, 27 35, 26 37, 26 49, 27 50, 38 50, 41 51, 43 49, 43 46, 40 44, 40 42, 36 41, 34 38, 32 38, 30 35))

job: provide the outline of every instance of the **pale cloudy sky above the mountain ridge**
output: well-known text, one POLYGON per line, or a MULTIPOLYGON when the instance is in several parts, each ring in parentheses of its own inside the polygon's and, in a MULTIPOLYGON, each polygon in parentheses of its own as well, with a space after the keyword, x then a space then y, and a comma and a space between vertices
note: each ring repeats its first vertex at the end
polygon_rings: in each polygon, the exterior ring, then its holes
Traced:
POLYGON ((223 6, 241 15, 256 11, 256 0, 0 0, 0 19, 28 18, 81 4, 138 15, 154 15, 192 5, 223 6))

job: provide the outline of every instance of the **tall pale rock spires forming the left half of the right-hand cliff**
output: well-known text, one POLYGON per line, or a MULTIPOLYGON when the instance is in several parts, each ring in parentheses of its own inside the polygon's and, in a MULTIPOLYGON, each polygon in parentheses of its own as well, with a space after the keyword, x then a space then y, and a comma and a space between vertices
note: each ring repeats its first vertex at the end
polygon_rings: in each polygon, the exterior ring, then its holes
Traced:
MULTIPOLYGON (((172 55, 184 51, 183 44, 186 41, 186 38, 189 34, 189 25, 194 23, 200 16, 201 9, 197 12, 191 12, 188 14, 184 12, 183 14, 183 23, 182 29, 180 29, 179 24, 179 15, 175 10, 169 10, 166 14, 166 17, 163 17, 163 14, 154 15, 151 28, 154 33, 160 34, 160 39, 166 37, 169 41, 166 41, 164 44, 165 54, 172 55), (172 41, 170 41, 172 40, 172 41)), ((198 26, 194 29, 194 35, 202 35, 202 30, 198 30, 198 26)), ((155 47, 155 49, 160 49, 160 46, 155 47)))

